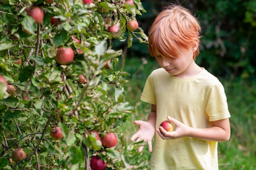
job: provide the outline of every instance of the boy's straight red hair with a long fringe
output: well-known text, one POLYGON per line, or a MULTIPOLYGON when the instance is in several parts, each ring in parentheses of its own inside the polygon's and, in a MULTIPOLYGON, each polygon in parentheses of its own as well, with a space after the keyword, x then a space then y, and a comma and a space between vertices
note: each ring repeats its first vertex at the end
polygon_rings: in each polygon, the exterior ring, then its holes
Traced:
MULTIPOLYGON (((188 9, 179 5, 168 6, 157 15, 148 35, 148 50, 156 57, 159 52, 164 57, 175 58, 179 48, 190 49, 195 39, 200 42, 201 26, 188 9)), ((195 50, 193 59, 198 56, 195 50)))

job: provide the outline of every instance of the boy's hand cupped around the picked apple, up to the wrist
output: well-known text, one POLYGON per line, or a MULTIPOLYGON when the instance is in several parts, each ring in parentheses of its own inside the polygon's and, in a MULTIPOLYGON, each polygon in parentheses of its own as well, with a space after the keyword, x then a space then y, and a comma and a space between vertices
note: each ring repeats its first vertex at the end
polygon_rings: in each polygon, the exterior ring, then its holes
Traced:
POLYGON ((191 127, 186 126, 182 122, 174 118, 171 118, 170 116, 168 116, 167 119, 173 124, 175 124, 175 131, 167 132, 166 130, 164 130, 162 126, 159 126, 159 129, 156 129, 156 131, 159 134, 159 136, 162 137, 162 139, 177 139, 180 137, 187 136, 189 134, 189 129, 191 127))

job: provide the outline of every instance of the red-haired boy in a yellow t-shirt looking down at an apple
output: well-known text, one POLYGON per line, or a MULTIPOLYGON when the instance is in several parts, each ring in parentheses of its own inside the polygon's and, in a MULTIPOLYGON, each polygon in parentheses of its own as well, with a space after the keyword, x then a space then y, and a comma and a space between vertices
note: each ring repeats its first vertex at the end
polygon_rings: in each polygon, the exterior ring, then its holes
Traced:
POLYGON ((135 120, 139 130, 131 140, 148 142, 151 170, 218 170, 217 144, 229 140, 224 88, 195 63, 200 33, 198 20, 179 5, 164 9, 150 28, 148 50, 162 68, 146 81, 141 100, 151 112, 147 121, 135 120), (159 127, 166 119, 174 131, 159 127))

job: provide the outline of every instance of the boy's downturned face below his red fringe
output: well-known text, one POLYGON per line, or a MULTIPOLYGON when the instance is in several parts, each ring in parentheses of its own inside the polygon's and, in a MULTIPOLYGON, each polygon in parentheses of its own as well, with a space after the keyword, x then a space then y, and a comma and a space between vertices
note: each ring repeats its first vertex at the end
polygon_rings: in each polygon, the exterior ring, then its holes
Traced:
POLYGON ((162 56, 160 52, 157 52, 156 59, 157 63, 169 74, 178 78, 183 78, 193 72, 191 69, 195 62, 193 60, 192 50, 180 48, 178 51, 177 57, 174 58, 162 56))

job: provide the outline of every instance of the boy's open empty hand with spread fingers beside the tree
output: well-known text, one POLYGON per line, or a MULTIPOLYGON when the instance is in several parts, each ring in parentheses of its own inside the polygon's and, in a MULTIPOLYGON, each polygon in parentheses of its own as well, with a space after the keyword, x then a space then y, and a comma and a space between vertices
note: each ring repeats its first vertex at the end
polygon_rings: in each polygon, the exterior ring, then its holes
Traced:
MULTIPOLYGON (((135 120, 134 124, 139 125, 139 129, 134 135, 132 135, 131 141, 134 141, 136 138, 138 138, 136 142, 141 140, 148 142, 148 150, 149 152, 152 152, 152 139, 155 135, 155 126, 142 120, 135 120)), ((143 148, 144 146, 140 146, 138 151, 141 152, 143 148)))

